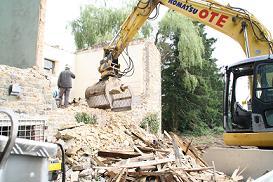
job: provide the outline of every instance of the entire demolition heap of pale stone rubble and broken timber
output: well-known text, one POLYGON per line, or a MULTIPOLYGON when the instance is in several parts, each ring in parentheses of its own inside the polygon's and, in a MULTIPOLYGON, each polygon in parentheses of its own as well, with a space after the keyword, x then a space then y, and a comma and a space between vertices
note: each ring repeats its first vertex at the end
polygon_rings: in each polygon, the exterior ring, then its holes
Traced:
POLYGON ((110 116, 104 126, 74 124, 56 138, 66 151, 68 181, 238 181, 206 164, 191 143, 164 132, 155 136, 110 116))

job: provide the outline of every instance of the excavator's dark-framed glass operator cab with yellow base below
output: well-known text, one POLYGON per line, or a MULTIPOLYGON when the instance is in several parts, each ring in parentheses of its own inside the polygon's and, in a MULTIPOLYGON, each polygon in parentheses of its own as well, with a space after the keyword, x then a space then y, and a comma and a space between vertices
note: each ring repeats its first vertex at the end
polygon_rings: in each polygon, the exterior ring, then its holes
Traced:
POLYGON ((254 57, 226 68, 224 140, 273 146, 273 59, 254 57))

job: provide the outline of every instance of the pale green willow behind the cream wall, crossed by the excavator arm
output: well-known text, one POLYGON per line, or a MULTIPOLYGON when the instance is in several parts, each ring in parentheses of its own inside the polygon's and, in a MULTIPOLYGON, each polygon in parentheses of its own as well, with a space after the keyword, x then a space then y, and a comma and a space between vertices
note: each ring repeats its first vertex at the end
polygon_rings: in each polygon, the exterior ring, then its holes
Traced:
MULTIPOLYGON (((81 9, 80 17, 70 23, 77 49, 111 40, 129 15, 129 4, 127 3, 126 8, 119 9, 92 5, 81 9)), ((138 37, 148 37, 151 30, 151 25, 146 23, 138 37)))

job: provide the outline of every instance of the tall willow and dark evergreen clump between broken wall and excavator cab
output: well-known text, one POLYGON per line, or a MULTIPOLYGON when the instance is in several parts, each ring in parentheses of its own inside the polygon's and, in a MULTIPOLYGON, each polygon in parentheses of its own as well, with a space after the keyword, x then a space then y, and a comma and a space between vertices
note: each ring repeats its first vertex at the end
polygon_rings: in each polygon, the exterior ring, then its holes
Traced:
POLYGON ((202 24, 169 11, 159 24, 163 128, 196 131, 219 125, 221 79, 211 58, 215 39, 202 24))

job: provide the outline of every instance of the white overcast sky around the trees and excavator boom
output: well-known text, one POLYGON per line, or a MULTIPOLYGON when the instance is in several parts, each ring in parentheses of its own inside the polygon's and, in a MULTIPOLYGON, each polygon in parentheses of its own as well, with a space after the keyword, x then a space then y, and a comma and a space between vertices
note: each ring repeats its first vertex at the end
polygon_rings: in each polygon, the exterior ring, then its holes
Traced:
MULTIPOLYGON (((121 6, 120 0, 112 0, 111 6, 121 6)), ((256 16, 269 30, 273 32, 271 0, 218 0, 218 2, 232 6, 241 7, 256 16)), ((69 22, 77 18, 80 14, 80 7, 85 4, 102 4, 100 0, 47 0, 45 42, 49 45, 60 45, 66 50, 74 50, 74 40, 71 30, 67 28, 69 22)), ((161 6, 160 17, 166 12, 166 8, 161 6)), ((153 24, 156 24, 155 22, 153 24)), ((239 46, 231 38, 223 35, 211 28, 207 28, 208 35, 217 38, 213 56, 219 62, 218 65, 228 65, 245 58, 239 46)))

